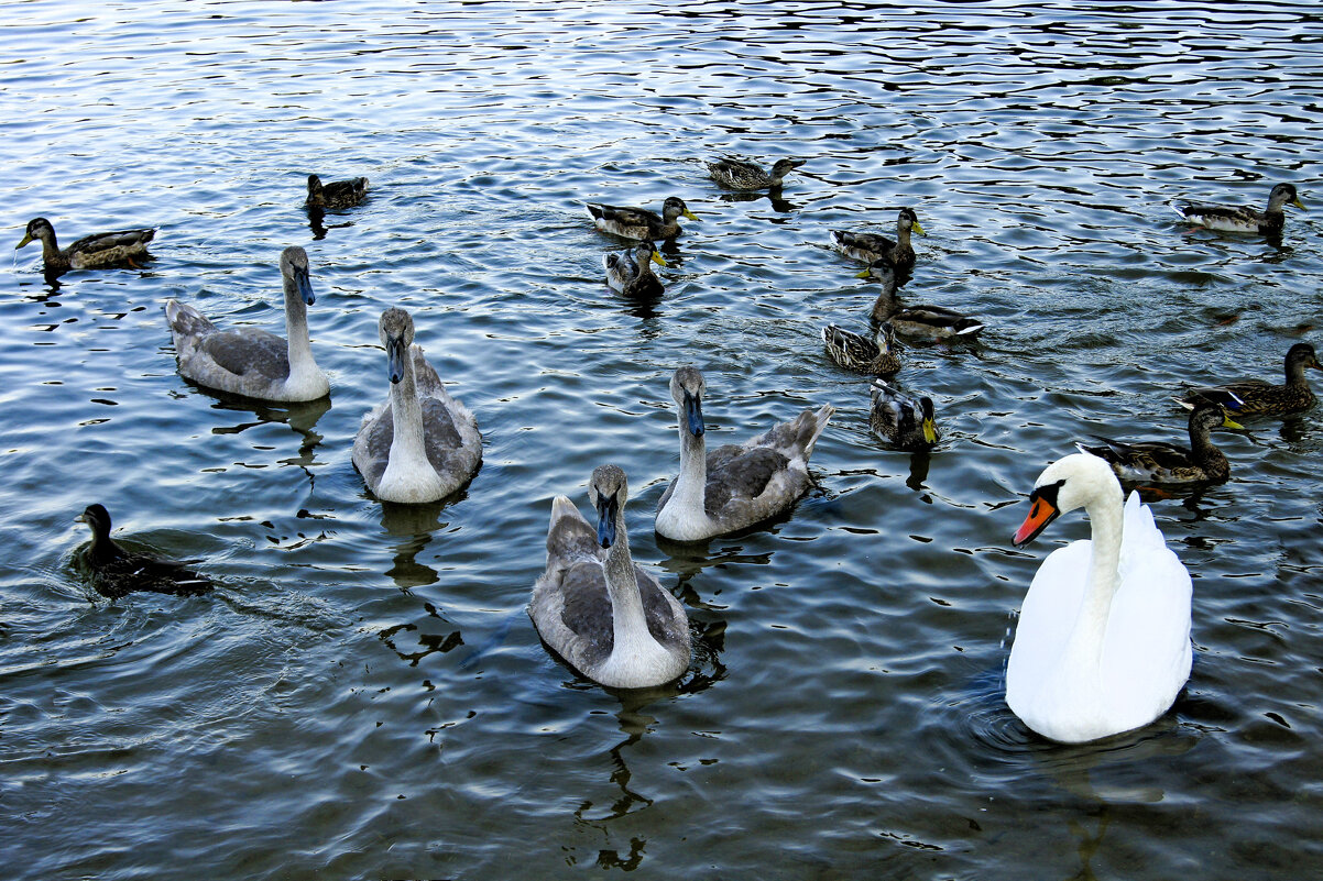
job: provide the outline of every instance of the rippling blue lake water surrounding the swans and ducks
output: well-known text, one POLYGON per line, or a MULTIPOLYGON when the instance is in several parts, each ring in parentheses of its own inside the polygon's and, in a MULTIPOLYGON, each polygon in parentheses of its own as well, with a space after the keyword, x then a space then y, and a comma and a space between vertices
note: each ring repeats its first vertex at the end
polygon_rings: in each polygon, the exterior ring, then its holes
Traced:
POLYGON ((1323 340, 1320 69, 1315 4, 8 4, 4 241, 160 233, 140 270, 48 283, 29 246, 4 273, 3 874, 1323 872, 1323 409, 1218 434, 1230 482, 1154 503, 1195 578, 1170 713, 1064 747, 1003 701, 1029 579, 1089 529, 1012 548, 1041 468, 1180 441, 1183 382, 1279 381, 1323 340), (736 198, 722 153, 806 164, 736 198), (369 200, 314 226, 310 172, 369 200), (1277 181, 1310 206, 1279 245, 1174 224, 1277 181), (701 222, 626 302, 582 202, 671 194, 701 222), (990 325, 905 351, 931 455, 869 433, 818 336, 873 291, 827 231, 902 205, 929 231, 905 296, 990 325), (329 401, 183 381, 165 299, 280 331, 288 245, 329 401), (349 460, 390 304, 484 433, 443 505, 382 505, 349 460), (712 442, 837 407, 791 516, 654 536, 687 362, 712 442), (524 612, 552 497, 587 511, 605 462, 697 636, 668 688, 593 685, 524 612), (98 597, 91 501, 217 590, 98 597))

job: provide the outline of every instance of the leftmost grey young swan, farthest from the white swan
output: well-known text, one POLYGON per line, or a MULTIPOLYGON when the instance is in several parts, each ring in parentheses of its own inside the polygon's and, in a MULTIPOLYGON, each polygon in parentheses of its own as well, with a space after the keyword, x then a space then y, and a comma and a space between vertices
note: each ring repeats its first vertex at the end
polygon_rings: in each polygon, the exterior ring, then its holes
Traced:
POLYGON ((192 306, 165 302, 179 373, 201 386, 262 401, 316 401, 331 382, 312 357, 307 307, 316 302, 308 254, 298 245, 280 253, 284 331, 288 341, 251 327, 222 331, 192 306))

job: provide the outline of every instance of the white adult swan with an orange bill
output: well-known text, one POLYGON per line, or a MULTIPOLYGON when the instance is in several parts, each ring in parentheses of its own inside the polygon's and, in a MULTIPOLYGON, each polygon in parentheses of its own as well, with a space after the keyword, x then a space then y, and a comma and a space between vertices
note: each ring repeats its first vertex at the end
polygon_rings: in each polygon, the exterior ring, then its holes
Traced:
POLYGON ((1033 575, 1007 663, 1007 705, 1062 743, 1148 725, 1189 679, 1189 571, 1136 492, 1122 505, 1121 483, 1098 456, 1048 466, 1029 505, 1017 546, 1076 508, 1091 536, 1053 550, 1033 575))

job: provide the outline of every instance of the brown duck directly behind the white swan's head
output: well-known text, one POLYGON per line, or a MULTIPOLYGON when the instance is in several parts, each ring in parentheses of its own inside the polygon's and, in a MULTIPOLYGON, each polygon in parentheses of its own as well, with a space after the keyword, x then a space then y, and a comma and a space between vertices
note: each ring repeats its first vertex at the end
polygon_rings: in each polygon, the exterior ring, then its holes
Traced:
POLYGON ((1076 443, 1080 452, 1095 455, 1122 480, 1147 483, 1226 483, 1230 464, 1213 446, 1213 429, 1244 429, 1216 403, 1199 403, 1189 414, 1189 447, 1164 441, 1125 443, 1093 435, 1097 444, 1076 443))

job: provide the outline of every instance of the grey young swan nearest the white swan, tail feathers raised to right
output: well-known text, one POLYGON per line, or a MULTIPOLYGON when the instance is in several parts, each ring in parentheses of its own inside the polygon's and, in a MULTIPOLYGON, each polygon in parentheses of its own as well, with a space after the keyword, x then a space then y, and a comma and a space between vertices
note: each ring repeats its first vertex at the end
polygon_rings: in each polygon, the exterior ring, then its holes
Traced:
POLYGON ((680 419, 680 474, 658 503, 656 533, 701 541, 753 526, 787 511, 808 492, 808 456, 835 407, 806 409, 742 444, 706 451, 703 372, 681 366, 671 377, 680 419))

